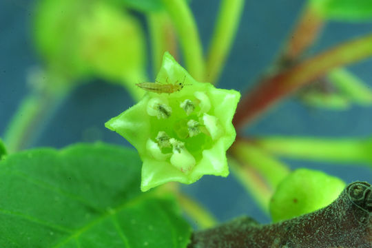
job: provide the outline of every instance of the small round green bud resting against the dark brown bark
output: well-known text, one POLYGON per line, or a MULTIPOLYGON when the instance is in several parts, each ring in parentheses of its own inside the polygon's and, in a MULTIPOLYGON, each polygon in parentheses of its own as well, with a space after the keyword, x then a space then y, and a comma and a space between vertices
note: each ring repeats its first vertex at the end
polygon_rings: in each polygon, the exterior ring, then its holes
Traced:
POLYGON ((308 214, 331 204, 345 187, 335 176, 296 169, 280 182, 270 201, 273 222, 308 214))

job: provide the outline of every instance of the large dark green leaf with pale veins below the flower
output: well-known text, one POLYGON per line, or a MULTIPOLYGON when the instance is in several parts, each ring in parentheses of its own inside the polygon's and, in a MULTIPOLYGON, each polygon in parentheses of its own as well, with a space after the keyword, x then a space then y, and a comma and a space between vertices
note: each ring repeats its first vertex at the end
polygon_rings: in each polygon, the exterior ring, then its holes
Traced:
POLYGON ((174 201, 139 191, 132 149, 34 149, 0 162, 0 247, 186 247, 174 201))

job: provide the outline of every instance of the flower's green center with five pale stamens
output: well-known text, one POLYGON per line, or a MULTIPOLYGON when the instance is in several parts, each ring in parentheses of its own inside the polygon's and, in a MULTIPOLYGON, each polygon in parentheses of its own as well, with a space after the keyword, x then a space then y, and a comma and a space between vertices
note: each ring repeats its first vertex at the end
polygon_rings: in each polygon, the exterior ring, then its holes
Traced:
POLYGON ((147 142, 147 151, 161 161, 169 161, 188 174, 222 135, 218 118, 207 114, 211 109, 204 92, 187 99, 156 96, 147 102, 147 114, 158 127, 147 142), (157 133, 156 133, 157 132, 157 133))

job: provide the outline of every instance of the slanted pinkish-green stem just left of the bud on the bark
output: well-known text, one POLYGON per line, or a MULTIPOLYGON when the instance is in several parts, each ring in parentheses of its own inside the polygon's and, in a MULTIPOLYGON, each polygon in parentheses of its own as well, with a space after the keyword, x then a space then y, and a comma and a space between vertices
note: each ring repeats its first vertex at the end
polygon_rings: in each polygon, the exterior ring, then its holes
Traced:
POLYGON ((267 185, 260 176, 257 169, 240 163, 235 158, 229 158, 229 166, 234 176, 240 180, 240 183, 247 189, 247 192, 256 200, 258 206, 269 214, 269 201, 273 195, 273 190, 267 185))

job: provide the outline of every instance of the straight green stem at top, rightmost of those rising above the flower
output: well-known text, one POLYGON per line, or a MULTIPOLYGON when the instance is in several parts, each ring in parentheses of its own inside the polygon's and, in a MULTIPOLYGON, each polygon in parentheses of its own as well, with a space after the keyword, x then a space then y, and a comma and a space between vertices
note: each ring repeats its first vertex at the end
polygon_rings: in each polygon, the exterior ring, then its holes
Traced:
POLYGON ((222 0, 206 63, 206 79, 216 83, 236 35, 244 0, 222 0))

